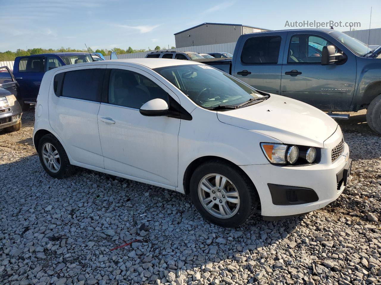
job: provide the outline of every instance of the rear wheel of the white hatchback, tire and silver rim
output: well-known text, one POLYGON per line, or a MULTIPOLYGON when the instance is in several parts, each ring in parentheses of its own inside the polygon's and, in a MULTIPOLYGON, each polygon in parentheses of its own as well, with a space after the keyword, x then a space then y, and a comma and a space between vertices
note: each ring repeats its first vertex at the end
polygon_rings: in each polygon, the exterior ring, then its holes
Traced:
POLYGON ((43 136, 38 142, 38 156, 42 167, 51 177, 66 178, 75 170, 75 166, 70 164, 61 142, 51 134, 43 136))

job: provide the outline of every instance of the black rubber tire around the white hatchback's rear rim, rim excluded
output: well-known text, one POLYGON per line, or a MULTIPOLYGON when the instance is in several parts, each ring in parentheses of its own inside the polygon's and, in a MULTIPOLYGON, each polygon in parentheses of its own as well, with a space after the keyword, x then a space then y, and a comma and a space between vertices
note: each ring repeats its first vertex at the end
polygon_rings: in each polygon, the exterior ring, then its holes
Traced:
POLYGON ((70 164, 64 147, 62 146, 61 142, 59 142, 59 140, 51 134, 43 136, 38 142, 38 156, 40 157, 40 162, 46 173, 48 173, 53 178, 62 179, 69 177, 74 173, 75 166, 70 164), (45 165, 45 162, 43 161, 42 148, 46 142, 52 144, 59 154, 60 167, 58 172, 50 171, 50 169, 45 165))

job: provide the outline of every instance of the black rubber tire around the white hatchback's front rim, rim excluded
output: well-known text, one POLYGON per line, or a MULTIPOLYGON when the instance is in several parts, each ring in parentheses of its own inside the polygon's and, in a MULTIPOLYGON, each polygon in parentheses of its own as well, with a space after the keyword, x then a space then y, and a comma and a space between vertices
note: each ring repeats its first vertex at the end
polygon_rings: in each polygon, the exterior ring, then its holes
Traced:
MULTIPOLYGON (((233 165, 227 164, 225 161, 209 161, 200 165, 195 169, 190 181, 190 195, 192 201, 199 213, 208 221, 227 228, 235 228, 242 225, 253 213, 258 206, 258 198, 256 190, 251 180, 233 165), (239 193, 239 207, 237 212, 229 218, 219 218, 205 209, 199 198, 200 181, 208 174, 220 174, 229 179, 234 184, 239 193)), ((217 202, 215 202, 217 204, 217 202)))

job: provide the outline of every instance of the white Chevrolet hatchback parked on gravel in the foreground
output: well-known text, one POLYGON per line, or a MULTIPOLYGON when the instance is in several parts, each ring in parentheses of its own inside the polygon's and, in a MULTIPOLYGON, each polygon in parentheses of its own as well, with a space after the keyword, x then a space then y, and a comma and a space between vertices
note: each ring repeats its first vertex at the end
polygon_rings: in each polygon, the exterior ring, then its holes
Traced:
MULTIPOLYGON (((45 171, 75 166, 190 194, 221 226, 324 207, 351 170, 338 124, 192 61, 129 59, 45 73, 34 146, 45 171)), ((160 190, 158 190, 160 191, 160 190)))

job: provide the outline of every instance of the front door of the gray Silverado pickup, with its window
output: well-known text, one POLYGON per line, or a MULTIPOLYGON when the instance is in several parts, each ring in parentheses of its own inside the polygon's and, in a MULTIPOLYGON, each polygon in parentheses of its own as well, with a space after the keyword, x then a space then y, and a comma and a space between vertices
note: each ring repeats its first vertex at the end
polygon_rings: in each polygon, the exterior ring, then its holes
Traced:
POLYGON ((347 111, 356 80, 354 55, 347 52, 348 59, 343 64, 321 65, 323 46, 331 44, 325 37, 288 34, 281 95, 325 111, 347 111))

